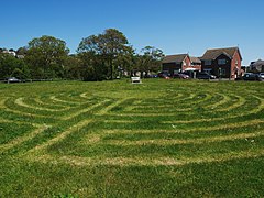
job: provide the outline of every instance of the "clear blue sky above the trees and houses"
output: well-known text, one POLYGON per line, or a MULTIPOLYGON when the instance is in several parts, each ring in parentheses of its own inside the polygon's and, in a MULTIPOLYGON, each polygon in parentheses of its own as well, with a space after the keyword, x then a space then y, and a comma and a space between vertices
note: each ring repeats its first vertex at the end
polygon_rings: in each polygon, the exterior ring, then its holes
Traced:
POLYGON ((18 48, 42 35, 66 41, 118 29, 138 50, 201 56, 239 46, 243 64, 264 58, 263 0, 12 0, 1 1, 0 47, 18 48))

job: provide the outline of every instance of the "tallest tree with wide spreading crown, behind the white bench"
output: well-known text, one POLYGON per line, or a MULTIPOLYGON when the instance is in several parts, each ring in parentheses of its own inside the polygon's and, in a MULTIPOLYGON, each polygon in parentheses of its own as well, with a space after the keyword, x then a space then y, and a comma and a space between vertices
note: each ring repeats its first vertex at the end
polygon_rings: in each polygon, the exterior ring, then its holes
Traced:
POLYGON ((117 59, 128 51, 131 51, 131 46, 123 33, 116 29, 108 29, 102 34, 84 38, 77 52, 79 54, 94 53, 103 62, 102 67, 108 67, 107 77, 113 79, 119 66, 117 59))

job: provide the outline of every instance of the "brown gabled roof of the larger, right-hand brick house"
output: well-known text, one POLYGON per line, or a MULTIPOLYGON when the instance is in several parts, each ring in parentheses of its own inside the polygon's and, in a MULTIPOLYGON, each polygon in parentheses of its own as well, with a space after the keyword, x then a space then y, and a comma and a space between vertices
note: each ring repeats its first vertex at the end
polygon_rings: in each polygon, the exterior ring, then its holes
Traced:
MULTIPOLYGON (((227 55, 228 57, 232 58, 235 54, 235 52, 239 52, 239 47, 229 47, 229 48, 211 48, 211 50, 207 50, 207 52, 204 54, 204 56, 201 57, 201 59, 216 59, 218 56, 220 56, 221 54, 227 55)), ((240 54, 240 57, 242 59, 242 56, 240 54)))

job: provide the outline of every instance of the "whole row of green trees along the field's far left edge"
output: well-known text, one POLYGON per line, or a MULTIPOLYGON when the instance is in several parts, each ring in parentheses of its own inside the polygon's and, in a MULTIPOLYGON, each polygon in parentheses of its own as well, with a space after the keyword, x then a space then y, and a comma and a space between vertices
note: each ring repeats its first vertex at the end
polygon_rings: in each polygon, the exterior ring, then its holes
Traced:
POLYGON ((82 38, 76 54, 69 54, 65 41, 47 35, 33 38, 18 51, 6 52, 0 48, 0 79, 12 76, 96 81, 135 74, 147 77, 161 69, 164 57, 163 52, 153 46, 136 53, 125 35, 116 29, 82 38))

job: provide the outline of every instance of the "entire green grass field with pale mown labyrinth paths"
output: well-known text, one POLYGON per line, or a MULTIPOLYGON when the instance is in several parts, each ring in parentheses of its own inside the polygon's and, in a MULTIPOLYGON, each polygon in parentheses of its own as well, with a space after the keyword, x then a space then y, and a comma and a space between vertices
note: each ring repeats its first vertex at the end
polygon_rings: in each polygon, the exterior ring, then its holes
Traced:
POLYGON ((263 197, 264 84, 0 85, 0 197, 263 197))

